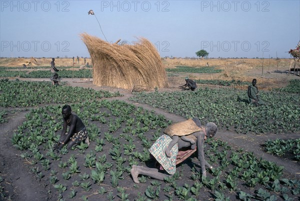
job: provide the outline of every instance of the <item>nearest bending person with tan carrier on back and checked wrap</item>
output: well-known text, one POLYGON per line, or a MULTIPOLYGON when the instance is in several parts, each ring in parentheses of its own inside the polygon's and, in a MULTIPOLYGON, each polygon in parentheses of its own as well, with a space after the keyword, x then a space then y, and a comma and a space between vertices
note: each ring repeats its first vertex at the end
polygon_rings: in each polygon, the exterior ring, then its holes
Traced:
POLYGON ((163 180, 166 176, 172 176, 176 172, 176 164, 186 159, 196 149, 198 159, 200 160, 202 176, 206 177, 205 166, 210 169, 212 166, 204 159, 204 141, 207 137, 213 137, 216 131, 217 126, 214 123, 209 122, 205 126, 201 126, 197 118, 188 119, 168 126, 164 131, 165 133, 167 132, 167 134, 161 135, 149 149, 151 155, 161 166, 159 168, 149 168, 132 165, 130 173, 133 181, 139 183, 139 174, 150 176, 158 180, 163 180), (178 134, 181 132, 185 132, 185 134, 183 134, 184 136, 186 135, 184 140, 181 138, 182 136, 177 137, 181 135, 178 134), (172 137, 170 137, 170 135, 172 135, 172 137), (193 140, 195 140, 195 142, 193 140))

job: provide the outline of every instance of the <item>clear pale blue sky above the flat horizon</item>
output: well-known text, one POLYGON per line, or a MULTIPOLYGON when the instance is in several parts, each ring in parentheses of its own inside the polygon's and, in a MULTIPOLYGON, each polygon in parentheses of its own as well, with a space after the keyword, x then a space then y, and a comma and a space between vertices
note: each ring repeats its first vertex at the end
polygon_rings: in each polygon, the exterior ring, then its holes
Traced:
POLYGON ((0 6, 2 57, 89 57, 82 32, 130 44, 145 37, 161 57, 196 57, 200 49, 208 57, 290 57, 286 51, 300 40, 300 0, 0 0, 0 6))

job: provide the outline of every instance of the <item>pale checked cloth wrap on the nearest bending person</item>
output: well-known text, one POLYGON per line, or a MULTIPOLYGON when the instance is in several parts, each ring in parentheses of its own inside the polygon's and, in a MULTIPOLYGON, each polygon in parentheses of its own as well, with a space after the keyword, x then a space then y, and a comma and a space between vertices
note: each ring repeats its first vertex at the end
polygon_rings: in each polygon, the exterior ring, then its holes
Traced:
POLYGON ((176 172, 176 155, 178 153, 177 143, 172 147, 170 153, 171 157, 167 157, 165 154, 165 148, 168 146, 172 138, 166 134, 161 135, 150 147, 150 153, 155 157, 163 169, 169 174, 176 172))

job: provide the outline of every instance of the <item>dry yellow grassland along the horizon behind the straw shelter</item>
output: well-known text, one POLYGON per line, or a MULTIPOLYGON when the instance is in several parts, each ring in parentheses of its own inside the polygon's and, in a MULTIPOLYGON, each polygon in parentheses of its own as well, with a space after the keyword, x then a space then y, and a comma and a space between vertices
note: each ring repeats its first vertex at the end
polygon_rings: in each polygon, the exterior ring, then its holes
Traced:
MULTIPOLYGON (((217 79, 217 80, 240 80, 251 82, 253 78, 257 79, 259 89, 271 89, 284 87, 288 80, 297 79, 299 76, 287 76, 291 58, 163 58, 162 62, 165 68, 176 68, 176 66, 204 67, 208 62, 209 66, 220 69, 219 73, 169 73, 170 88, 180 85, 182 78, 188 76, 190 79, 217 79), (172 76, 175 75, 175 76, 172 76)), ((36 70, 38 66, 50 66, 51 58, 0 58, 0 66, 21 67, 27 65, 26 70, 36 70), (30 63, 28 65, 28 63, 30 63)), ((89 65, 92 64, 90 58, 86 58, 89 65)), ((84 64, 84 58, 79 58, 77 63, 74 58, 55 58, 55 66, 68 67, 78 70, 80 65, 84 64)), ((296 63, 297 64, 297 63, 296 63)), ((293 64, 291 66, 293 68, 293 64)), ((297 68, 297 65, 296 65, 297 68)), ((291 75, 293 71, 291 71, 291 75)))

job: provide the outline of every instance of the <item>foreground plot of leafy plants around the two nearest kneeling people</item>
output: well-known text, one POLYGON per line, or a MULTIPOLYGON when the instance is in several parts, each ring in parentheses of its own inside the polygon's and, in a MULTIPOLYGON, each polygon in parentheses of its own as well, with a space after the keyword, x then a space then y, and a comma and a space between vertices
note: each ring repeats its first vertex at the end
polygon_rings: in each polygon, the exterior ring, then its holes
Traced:
POLYGON ((11 138, 29 171, 58 200, 292 200, 300 193, 299 180, 283 177, 284 167, 214 138, 205 143, 206 160, 214 166, 206 178, 195 154, 164 181, 140 176, 141 183, 134 184, 131 166, 153 164, 148 148, 171 122, 118 100, 71 104, 87 127, 90 145, 57 153, 61 106, 32 109, 11 138))

